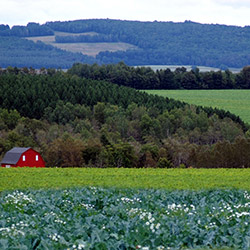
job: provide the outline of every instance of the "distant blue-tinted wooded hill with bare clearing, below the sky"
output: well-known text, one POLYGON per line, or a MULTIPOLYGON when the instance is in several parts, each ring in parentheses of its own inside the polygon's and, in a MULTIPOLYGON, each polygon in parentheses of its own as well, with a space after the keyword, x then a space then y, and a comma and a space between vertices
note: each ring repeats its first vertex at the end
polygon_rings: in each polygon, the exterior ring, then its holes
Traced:
POLYGON ((0 25, 0 52, 1 67, 124 61, 242 68, 250 64, 250 26, 111 19, 0 25))

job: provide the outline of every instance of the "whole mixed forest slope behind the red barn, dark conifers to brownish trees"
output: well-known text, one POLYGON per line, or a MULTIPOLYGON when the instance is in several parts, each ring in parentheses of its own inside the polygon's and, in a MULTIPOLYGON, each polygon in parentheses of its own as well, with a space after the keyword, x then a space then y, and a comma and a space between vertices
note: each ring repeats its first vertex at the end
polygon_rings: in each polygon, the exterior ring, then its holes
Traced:
POLYGON ((0 71, 0 155, 50 167, 249 167, 250 130, 202 108, 55 69, 0 71))

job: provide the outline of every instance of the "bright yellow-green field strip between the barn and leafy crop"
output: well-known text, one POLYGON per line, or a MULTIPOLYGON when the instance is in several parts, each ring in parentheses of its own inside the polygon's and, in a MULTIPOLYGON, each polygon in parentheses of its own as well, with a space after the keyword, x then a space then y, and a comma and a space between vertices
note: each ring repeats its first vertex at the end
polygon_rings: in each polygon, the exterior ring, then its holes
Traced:
POLYGON ((0 191, 101 186, 250 190, 250 169, 0 168, 0 191))

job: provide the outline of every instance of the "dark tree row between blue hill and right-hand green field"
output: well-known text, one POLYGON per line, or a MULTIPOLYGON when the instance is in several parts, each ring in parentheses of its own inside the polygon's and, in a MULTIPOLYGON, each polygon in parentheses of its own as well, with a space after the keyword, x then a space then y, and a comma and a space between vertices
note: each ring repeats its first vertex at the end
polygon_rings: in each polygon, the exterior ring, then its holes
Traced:
POLYGON ((131 67, 123 62, 108 65, 74 64, 69 74, 92 80, 107 80, 136 89, 249 89, 250 66, 239 73, 231 71, 187 71, 184 67, 153 71, 150 67, 131 67))

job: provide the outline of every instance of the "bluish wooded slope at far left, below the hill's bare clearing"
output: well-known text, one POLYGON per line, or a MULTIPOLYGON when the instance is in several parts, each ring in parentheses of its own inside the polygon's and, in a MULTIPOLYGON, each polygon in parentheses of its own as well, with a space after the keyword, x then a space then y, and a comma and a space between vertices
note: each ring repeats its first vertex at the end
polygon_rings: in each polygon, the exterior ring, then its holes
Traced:
POLYGON ((46 45, 40 41, 0 36, 0 67, 69 68, 75 62, 93 63, 94 58, 46 45))

